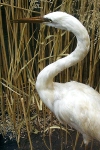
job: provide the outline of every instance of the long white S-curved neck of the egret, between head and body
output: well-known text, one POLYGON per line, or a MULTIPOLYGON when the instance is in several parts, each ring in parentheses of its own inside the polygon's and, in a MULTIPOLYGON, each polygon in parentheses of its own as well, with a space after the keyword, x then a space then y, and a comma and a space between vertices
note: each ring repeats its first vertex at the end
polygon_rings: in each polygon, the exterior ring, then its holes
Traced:
MULTIPOLYGON (((90 46, 89 35, 85 27, 78 22, 79 26, 74 25, 74 29, 70 27, 70 30, 75 34, 77 38, 77 46, 75 50, 62 59, 45 67, 38 75, 36 81, 37 91, 52 88, 53 78, 66 68, 69 68, 79 61, 83 60, 87 55, 90 46)), ((65 26, 64 29, 67 27, 65 26)))

